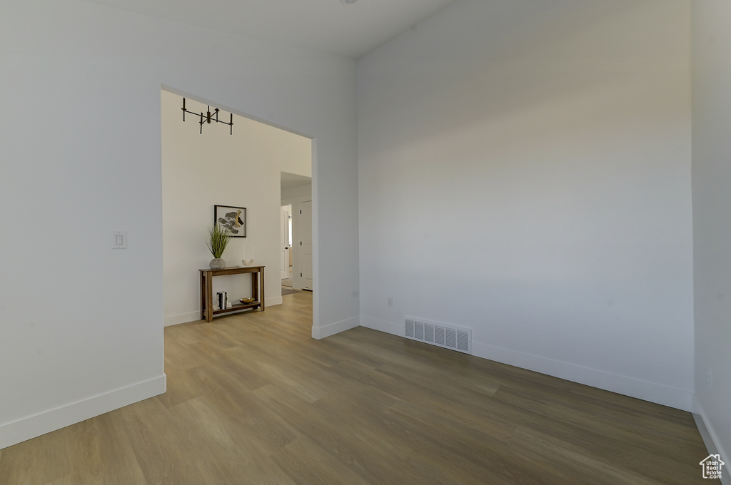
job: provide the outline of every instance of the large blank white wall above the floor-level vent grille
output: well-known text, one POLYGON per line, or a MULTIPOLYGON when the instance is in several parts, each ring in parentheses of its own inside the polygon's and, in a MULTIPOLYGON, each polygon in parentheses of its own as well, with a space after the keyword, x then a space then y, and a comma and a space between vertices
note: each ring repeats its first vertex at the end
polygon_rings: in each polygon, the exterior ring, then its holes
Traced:
POLYGON ((689 13, 460 1, 361 59, 361 324, 689 410, 689 13))

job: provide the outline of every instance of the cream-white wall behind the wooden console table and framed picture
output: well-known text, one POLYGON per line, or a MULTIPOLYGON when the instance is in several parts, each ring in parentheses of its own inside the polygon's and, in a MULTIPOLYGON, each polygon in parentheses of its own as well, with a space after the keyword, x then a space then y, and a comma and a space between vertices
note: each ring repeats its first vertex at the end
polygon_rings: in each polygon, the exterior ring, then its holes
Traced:
MULTIPOLYGON (((266 305, 281 303, 279 275, 282 171, 311 177, 311 140, 258 121, 234 117, 230 127, 203 126, 192 115, 183 123, 182 98, 162 92, 162 261, 165 324, 200 320, 201 268, 211 252, 205 245, 213 205, 246 207, 246 237, 232 237, 223 259, 239 266, 246 248, 265 266, 266 305)), ((214 105, 215 106, 215 105, 214 105)), ((192 112, 208 106, 188 99, 192 112)), ((216 106, 217 107, 217 106, 216 106)), ((229 113, 221 118, 228 121, 229 113)), ((247 276, 213 279, 214 291, 238 299, 251 294, 247 276)))

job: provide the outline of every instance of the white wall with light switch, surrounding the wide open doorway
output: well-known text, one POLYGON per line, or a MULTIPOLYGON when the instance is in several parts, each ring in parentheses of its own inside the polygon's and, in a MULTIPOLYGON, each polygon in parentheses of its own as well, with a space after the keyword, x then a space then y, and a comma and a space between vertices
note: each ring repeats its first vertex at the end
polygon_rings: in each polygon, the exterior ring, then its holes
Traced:
POLYGON ((313 333, 357 324, 353 61, 77 0, 0 45, 0 448, 164 390, 161 85, 315 138, 313 333))

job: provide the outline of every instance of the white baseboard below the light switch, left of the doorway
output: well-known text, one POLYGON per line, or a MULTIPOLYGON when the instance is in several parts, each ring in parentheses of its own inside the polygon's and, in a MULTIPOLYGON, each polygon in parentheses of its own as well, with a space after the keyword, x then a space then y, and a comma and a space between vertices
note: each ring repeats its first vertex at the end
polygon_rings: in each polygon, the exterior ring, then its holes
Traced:
POLYGON ((71 424, 94 418, 133 402, 163 394, 167 376, 162 374, 148 381, 97 394, 85 400, 72 402, 42 413, 0 424, 0 449, 21 443, 71 424))

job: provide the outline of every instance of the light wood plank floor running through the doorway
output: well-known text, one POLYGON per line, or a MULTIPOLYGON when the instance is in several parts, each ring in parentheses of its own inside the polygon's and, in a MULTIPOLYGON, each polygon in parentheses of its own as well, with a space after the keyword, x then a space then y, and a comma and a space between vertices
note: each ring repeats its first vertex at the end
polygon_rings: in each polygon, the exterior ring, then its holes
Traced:
POLYGON ((679 410, 357 328, 312 295, 165 329, 168 391, 0 451, 2 485, 705 484, 679 410))

